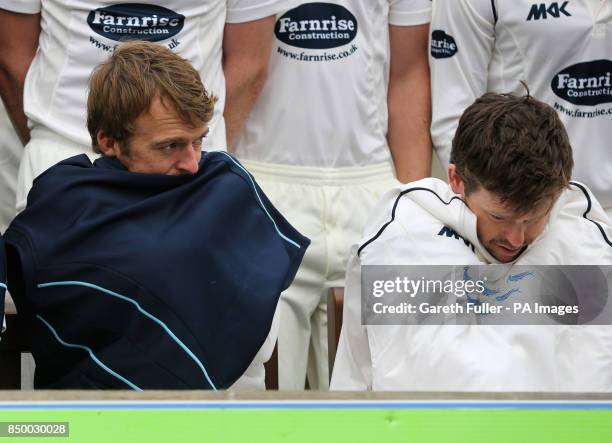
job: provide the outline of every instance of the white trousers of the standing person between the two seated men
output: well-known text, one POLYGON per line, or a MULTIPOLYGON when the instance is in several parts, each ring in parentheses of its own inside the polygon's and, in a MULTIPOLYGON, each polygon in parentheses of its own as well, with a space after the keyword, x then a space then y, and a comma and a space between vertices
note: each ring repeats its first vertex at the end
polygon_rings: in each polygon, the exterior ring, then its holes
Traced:
POLYGON ((285 218, 310 238, 295 281, 281 296, 279 389, 329 388, 327 294, 344 286, 350 246, 370 209, 397 184, 390 164, 323 169, 242 161, 285 218))

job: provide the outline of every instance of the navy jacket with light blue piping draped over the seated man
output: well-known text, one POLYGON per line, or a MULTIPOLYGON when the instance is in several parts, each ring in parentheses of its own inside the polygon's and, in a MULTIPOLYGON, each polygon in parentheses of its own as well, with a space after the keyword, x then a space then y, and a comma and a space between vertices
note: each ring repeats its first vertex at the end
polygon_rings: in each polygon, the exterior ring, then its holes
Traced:
POLYGON ((6 232, 37 388, 226 388, 270 330, 309 240, 226 153, 195 175, 72 157, 6 232))

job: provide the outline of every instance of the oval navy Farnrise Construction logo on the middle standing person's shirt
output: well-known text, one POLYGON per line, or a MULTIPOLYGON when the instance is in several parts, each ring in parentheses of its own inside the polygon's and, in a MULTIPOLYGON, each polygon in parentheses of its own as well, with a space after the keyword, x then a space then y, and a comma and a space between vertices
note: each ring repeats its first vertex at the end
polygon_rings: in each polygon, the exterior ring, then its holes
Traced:
POLYGON ((306 3, 280 17, 274 34, 281 42, 298 48, 337 48, 355 38, 357 19, 340 5, 306 3))

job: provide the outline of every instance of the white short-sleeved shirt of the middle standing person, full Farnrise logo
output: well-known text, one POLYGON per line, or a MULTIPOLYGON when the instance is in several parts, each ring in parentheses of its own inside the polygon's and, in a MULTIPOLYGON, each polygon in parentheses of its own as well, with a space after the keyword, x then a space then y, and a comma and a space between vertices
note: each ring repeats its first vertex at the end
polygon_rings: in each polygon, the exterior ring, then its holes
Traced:
POLYGON ((268 81, 237 143, 237 156, 319 168, 390 161, 389 24, 428 23, 430 9, 428 0, 337 0, 302 2, 278 14, 268 81), (307 19, 328 31, 291 31, 307 19), (354 39, 350 29, 329 31, 333 25, 325 21, 332 19, 338 29, 340 20, 349 20, 354 39), (349 37, 330 39, 334 32, 349 37), (302 34, 327 38, 295 39, 302 34), (296 46, 304 42, 313 47, 296 46))

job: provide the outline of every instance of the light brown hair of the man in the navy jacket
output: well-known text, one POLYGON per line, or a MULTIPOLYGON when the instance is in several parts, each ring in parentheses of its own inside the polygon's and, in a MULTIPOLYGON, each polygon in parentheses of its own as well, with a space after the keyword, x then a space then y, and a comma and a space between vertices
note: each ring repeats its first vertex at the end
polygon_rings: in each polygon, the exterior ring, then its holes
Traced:
POLYGON ((193 126, 210 121, 217 100, 206 92, 193 66, 170 49, 144 41, 119 45, 89 79, 87 129, 93 150, 100 152, 100 130, 127 142, 136 118, 158 96, 193 126))

